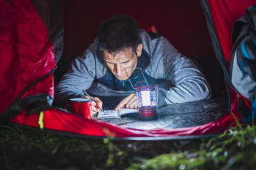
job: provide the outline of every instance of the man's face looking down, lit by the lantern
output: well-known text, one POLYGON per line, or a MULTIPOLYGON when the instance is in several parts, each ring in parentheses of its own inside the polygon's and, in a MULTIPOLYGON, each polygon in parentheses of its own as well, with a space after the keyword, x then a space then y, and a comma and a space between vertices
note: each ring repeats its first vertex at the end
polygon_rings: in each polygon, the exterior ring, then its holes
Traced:
POLYGON ((138 56, 131 49, 131 47, 126 48, 124 51, 111 55, 107 51, 103 51, 104 60, 109 66, 111 72, 118 78, 118 80, 127 80, 127 74, 130 77, 134 73, 135 68, 126 69, 129 66, 136 66, 138 62, 138 56))

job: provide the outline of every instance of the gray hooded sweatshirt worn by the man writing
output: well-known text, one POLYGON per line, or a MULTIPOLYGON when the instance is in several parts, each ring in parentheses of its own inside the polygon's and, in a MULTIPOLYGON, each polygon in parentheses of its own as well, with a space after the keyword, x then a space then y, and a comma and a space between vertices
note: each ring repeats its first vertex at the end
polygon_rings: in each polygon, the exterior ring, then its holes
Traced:
MULTIPOLYGON (((166 38, 144 29, 140 30, 140 38, 142 56, 138 58, 137 66, 142 68, 149 82, 158 84, 158 106, 211 98, 211 88, 204 75, 166 38)), ((139 75, 133 73, 130 78, 136 80, 139 75)), ((82 90, 97 96, 135 93, 129 80, 117 80, 109 71, 99 49, 98 38, 72 62, 55 90, 57 106, 63 106, 72 97, 83 97, 82 90)))

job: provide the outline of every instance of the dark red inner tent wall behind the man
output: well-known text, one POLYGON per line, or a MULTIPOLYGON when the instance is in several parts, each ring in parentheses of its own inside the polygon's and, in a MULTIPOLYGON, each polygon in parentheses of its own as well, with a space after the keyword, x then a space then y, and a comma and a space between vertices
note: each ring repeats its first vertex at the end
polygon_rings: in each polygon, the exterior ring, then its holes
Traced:
POLYGON ((55 84, 70 62, 98 36, 103 21, 118 14, 136 19, 140 29, 156 27, 184 56, 192 58, 209 80, 213 97, 226 90, 207 29, 202 6, 194 1, 63 1, 64 49, 55 71, 55 84))

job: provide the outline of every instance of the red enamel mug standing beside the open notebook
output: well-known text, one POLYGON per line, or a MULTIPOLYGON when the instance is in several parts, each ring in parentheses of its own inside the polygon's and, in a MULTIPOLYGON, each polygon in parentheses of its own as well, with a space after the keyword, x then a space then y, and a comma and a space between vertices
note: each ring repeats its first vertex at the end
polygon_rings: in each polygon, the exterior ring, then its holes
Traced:
POLYGON ((65 103, 64 108, 67 109, 67 105, 69 104, 71 112, 81 114, 86 119, 92 119, 92 99, 72 98, 65 103))

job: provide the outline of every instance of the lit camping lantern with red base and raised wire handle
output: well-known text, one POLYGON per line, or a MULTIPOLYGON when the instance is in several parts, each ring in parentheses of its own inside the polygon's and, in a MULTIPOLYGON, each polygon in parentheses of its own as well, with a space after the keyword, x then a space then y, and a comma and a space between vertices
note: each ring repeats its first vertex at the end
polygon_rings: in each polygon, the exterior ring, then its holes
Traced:
MULTIPOLYGON (((136 69, 140 69, 140 68, 136 67, 136 69)), ((137 107, 139 111, 138 117, 141 120, 157 119, 158 114, 156 112, 156 106, 158 104, 158 85, 157 84, 149 85, 145 78, 144 73, 142 72, 142 69, 140 69, 140 71, 144 77, 144 81, 137 82, 137 84, 134 86, 131 83, 131 80, 129 79, 131 86, 136 90, 136 97, 138 102, 137 107)), ((128 74, 127 76, 129 78, 128 74)))

